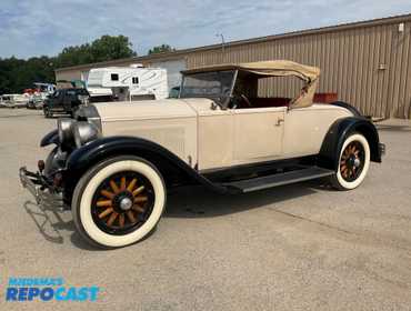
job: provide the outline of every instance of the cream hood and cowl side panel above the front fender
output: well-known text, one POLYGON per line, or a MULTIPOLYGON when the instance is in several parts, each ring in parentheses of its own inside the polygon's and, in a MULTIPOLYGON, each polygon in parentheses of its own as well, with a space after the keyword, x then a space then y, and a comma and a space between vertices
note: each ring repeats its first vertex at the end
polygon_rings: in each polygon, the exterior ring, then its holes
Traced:
POLYGON ((103 137, 143 138, 170 150, 190 167, 197 164, 197 113, 186 102, 157 100, 94 106, 101 117, 103 137))

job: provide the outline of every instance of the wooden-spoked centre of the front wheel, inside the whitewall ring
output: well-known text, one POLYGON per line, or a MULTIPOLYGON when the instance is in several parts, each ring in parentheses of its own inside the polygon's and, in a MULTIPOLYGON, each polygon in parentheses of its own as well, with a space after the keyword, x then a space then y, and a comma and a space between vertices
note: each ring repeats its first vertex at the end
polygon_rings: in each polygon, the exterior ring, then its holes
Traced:
POLYGON ((150 181, 132 171, 108 177, 93 195, 96 224, 110 234, 127 234, 150 217, 156 195, 150 181))

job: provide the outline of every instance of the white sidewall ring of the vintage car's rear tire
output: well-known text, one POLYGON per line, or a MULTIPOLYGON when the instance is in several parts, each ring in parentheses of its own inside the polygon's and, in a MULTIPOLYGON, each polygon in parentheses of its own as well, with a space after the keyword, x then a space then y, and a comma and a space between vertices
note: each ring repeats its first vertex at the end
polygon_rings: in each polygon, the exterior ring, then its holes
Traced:
POLYGON ((370 168, 370 158, 371 158, 370 146, 369 146, 367 139, 362 134, 352 134, 348 139, 345 139, 345 141, 342 146, 341 152, 340 152, 339 167, 338 167, 338 171, 337 171, 337 180, 338 180, 339 184, 342 188, 347 189, 347 190, 352 190, 352 189, 355 189, 357 187, 359 187, 367 177, 368 170, 370 168), (340 162, 341 162, 342 153, 344 152, 345 148, 353 141, 358 141, 362 144, 362 147, 364 149, 364 153, 365 153, 365 157, 364 157, 365 158, 364 159, 365 163, 364 163, 364 167, 362 168, 361 174, 355 180, 347 181, 347 180, 343 179, 343 177, 341 174, 340 162))

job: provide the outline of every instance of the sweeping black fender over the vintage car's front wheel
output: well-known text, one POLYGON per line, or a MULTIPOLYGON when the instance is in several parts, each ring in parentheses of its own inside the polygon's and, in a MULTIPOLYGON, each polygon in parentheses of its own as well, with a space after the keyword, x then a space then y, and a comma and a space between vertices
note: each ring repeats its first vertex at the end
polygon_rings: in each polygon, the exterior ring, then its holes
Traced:
POLYGON ((200 183, 214 191, 227 189, 210 182, 168 149, 146 139, 133 137, 109 137, 94 140, 74 150, 67 160, 67 178, 71 187, 81 175, 97 163, 118 156, 136 156, 146 159, 158 168, 166 181, 200 183))

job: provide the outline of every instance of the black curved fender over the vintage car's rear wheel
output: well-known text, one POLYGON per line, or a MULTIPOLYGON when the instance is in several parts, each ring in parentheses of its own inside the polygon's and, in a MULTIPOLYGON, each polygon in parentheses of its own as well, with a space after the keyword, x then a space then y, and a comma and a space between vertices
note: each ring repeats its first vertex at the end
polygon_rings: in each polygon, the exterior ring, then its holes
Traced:
POLYGON ((381 162, 380 138, 374 124, 361 117, 349 117, 337 120, 329 129, 319 154, 319 165, 337 170, 341 148, 350 133, 359 132, 370 144, 371 161, 381 162))

